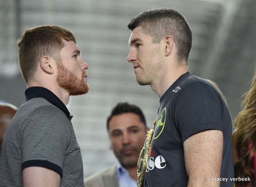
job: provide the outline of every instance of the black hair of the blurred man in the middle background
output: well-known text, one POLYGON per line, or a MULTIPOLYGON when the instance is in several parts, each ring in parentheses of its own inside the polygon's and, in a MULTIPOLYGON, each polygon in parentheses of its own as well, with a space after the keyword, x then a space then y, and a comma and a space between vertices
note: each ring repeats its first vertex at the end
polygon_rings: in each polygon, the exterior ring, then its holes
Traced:
POLYGON ((112 109, 110 116, 107 118, 107 130, 109 128, 109 122, 113 118, 113 116, 123 114, 123 113, 128 113, 128 112, 137 114, 140 117, 140 121, 142 121, 146 126, 146 119, 144 117, 142 110, 133 104, 128 104, 127 102, 125 102, 125 103, 118 103, 112 109))

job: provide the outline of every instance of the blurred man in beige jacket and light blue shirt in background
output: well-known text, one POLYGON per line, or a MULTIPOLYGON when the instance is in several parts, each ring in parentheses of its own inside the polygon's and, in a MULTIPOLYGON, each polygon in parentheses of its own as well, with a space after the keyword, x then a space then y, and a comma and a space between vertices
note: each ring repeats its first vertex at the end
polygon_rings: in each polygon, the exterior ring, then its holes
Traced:
POLYGON ((107 119, 111 149, 117 163, 87 177, 85 187, 136 187, 138 158, 148 130, 139 107, 118 103, 107 119))

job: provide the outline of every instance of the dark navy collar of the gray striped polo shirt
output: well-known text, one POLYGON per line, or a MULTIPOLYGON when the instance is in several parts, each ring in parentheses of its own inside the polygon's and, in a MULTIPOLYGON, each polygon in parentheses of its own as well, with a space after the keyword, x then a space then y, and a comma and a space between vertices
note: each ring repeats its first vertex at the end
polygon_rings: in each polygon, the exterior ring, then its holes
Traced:
POLYGON ((29 87, 25 90, 25 97, 26 101, 30 100, 34 97, 42 97, 52 104, 54 104, 56 107, 61 109, 66 115, 70 115, 68 108, 65 106, 65 104, 57 97, 55 94, 53 94, 52 91, 39 86, 33 86, 29 87))

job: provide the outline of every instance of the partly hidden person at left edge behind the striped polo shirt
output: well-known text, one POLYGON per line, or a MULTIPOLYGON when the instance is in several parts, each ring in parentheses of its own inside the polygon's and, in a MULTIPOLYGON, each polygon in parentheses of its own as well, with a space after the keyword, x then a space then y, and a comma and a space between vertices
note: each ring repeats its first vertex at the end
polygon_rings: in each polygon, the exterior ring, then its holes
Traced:
POLYGON ((13 104, 0 102, 0 155, 6 129, 17 110, 18 108, 13 104))

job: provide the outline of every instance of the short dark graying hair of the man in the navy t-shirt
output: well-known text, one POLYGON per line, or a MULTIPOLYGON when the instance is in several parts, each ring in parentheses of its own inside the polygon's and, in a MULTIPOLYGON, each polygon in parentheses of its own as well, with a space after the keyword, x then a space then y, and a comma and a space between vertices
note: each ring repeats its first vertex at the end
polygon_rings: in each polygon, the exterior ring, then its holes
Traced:
POLYGON ((178 61, 188 60, 192 47, 192 31, 180 12, 171 8, 143 11, 128 23, 127 28, 133 31, 139 26, 144 34, 153 37, 153 43, 159 43, 167 35, 172 36, 177 47, 178 61))

